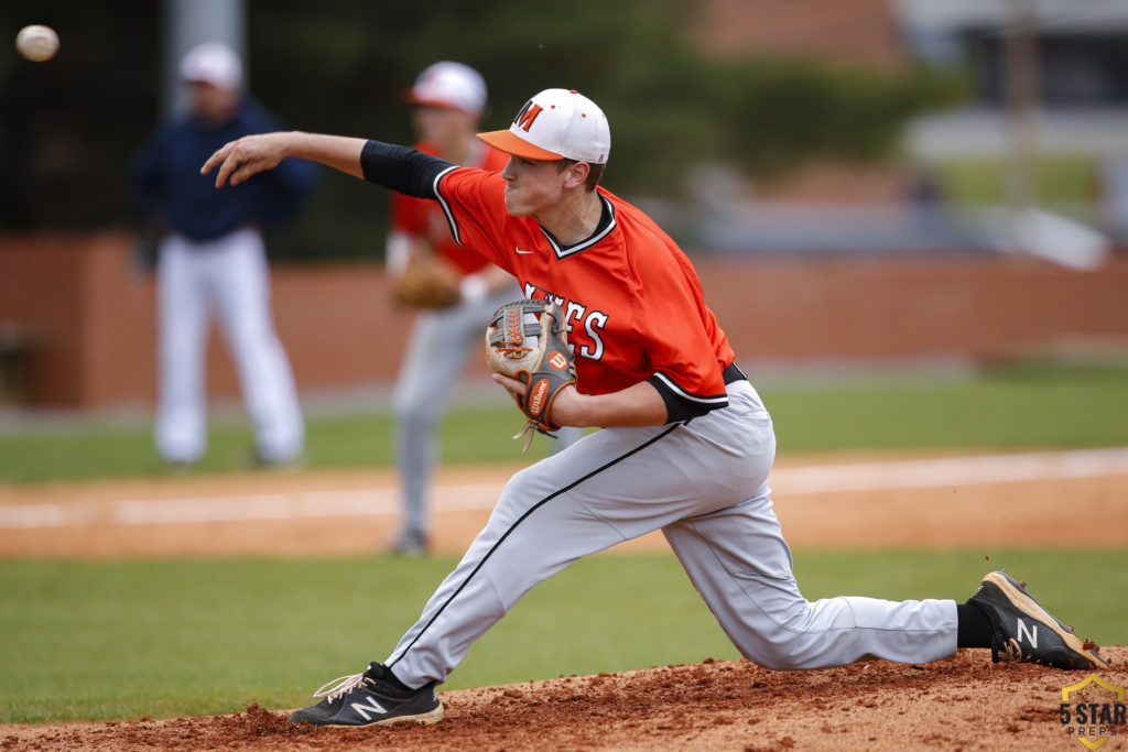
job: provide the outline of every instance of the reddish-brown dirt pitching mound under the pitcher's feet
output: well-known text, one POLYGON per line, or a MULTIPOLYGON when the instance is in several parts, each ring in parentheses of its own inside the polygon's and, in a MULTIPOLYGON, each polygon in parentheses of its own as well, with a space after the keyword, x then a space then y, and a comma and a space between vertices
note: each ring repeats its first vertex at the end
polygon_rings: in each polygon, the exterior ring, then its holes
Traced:
MULTIPOLYGON (((1128 684, 1128 648, 1105 682, 1128 684)), ((769 671, 747 661, 440 692, 435 726, 314 728, 250 705, 232 716, 0 728, 0 750, 1048 750, 1084 749, 1058 718, 1085 672, 993 664, 988 651, 907 665, 769 671)), ((1092 698, 1090 698, 1092 699, 1092 698)), ((1096 701, 1101 701, 1098 698, 1096 701)), ((1128 747, 1123 724, 1085 727, 1128 747)))

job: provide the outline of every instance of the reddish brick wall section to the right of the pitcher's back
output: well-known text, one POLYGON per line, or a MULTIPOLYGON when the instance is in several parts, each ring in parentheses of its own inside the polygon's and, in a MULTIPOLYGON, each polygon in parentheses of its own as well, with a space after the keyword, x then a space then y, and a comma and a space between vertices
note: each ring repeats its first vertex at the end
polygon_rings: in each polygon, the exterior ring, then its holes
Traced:
POLYGON ((978 255, 725 259, 698 271, 742 359, 990 357, 1073 338, 1128 347, 1125 256, 1093 273, 978 255))

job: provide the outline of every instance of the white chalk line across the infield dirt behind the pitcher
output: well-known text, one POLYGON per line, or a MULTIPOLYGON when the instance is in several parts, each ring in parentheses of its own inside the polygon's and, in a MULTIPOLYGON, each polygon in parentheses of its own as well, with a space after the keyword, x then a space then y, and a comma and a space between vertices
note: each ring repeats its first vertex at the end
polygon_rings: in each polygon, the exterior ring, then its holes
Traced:
MULTIPOLYGON (((778 468, 777 496, 1128 475, 1128 446, 778 468)), ((437 485, 437 512, 492 508, 504 483, 437 485)), ((0 529, 188 524, 399 514, 398 488, 0 505, 0 529)))

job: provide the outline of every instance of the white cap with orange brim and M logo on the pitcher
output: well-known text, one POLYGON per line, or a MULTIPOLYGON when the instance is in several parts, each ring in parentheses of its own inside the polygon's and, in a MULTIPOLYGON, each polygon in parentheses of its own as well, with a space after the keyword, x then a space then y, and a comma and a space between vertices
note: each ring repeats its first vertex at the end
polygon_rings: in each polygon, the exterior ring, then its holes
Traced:
POLYGON ((545 89, 525 103, 508 131, 478 133, 478 138, 526 159, 603 165, 611 151, 607 116, 575 89, 545 89))

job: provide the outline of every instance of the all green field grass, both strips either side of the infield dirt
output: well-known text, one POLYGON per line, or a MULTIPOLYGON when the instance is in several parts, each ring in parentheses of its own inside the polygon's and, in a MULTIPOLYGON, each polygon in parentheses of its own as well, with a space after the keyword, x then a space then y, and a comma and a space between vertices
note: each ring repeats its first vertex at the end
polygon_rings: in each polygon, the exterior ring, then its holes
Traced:
MULTIPOLYGON (((1011 368, 969 379, 763 390, 781 452, 1012 450, 1128 444, 1128 370, 1011 368)), ((514 460, 508 404, 456 410, 449 462, 514 460)), ((387 416, 314 417, 310 465, 390 461, 387 416)), ((212 431, 194 472, 244 469, 246 426, 212 431)), ((544 452, 535 442, 530 452, 544 452)), ((166 472, 148 426, 0 436, 0 483, 166 472)), ((1121 499, 1118 499, 1121 501, 1121 499)), ((0 559, 0 722, 287 708, 384 660, 452 559, 0 559)), ((808 598, 967 599, 1006 566, 1105 644, 1128 643, 1128 550, 799 551, 808 598), (985 556, 989 560, 985 560, 985 556)), ((448 689, 737 657, 670 555, 598 556, 529 596, 479 640, 448 689)))

